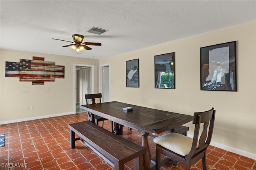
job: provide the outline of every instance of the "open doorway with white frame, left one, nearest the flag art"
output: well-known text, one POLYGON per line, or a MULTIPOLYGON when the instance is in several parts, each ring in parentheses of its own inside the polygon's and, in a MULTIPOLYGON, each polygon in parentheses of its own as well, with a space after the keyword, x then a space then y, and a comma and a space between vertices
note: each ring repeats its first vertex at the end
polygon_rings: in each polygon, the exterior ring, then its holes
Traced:
POLYGON ((74 113, 85 105, 84 94, 94 93, 94 65, 74 64, 74 113))

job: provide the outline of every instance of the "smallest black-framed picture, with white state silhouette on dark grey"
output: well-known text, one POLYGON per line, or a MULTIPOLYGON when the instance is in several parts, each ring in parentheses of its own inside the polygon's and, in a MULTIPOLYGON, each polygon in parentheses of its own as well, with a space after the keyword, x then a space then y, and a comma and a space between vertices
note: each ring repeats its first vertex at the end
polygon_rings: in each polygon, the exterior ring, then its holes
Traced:
POLYGON ((139 59, 126 61, 126 87, 140 87, 139 59))

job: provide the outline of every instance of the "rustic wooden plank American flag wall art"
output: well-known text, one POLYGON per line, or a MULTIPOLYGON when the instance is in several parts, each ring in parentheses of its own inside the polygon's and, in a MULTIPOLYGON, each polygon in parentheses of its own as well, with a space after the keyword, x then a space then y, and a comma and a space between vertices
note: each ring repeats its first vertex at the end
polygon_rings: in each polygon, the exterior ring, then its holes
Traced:
POLYGON ((19 77, 20 81, 32 81, 33 85, 43 85, 44 81, 64 78, 65 67, 55 62, 44 61, 44 57, 32 60, 20 59, 20 62, 5 62, 5 77, 19 77))

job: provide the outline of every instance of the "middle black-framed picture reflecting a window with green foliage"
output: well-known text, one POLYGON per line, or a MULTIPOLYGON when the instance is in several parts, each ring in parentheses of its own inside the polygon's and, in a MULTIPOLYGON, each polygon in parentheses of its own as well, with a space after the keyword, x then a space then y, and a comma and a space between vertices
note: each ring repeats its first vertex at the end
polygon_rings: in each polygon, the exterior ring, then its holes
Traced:
POLYGON ((155 55, 155 88, 175 89, 174 52, 155 55))

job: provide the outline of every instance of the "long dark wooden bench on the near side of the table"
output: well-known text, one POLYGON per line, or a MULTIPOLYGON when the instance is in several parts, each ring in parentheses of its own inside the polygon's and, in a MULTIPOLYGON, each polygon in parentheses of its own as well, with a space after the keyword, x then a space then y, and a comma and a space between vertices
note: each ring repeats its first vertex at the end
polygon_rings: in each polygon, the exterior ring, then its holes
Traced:
POLYGON ((68 127, 70 128, 70 148, 74 148, 75 141, 80 139, 86 142, 92 150, 98 151, 104 160, 112 162, 115 170, 124 170, 124 163, 133 159, 134 170, 143 169, 143 155, 146 153, 144 147, 90 121, 73 123, 68 127), (75 134, 78 134, 80 138, 75 138, 75 134))

